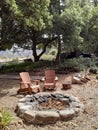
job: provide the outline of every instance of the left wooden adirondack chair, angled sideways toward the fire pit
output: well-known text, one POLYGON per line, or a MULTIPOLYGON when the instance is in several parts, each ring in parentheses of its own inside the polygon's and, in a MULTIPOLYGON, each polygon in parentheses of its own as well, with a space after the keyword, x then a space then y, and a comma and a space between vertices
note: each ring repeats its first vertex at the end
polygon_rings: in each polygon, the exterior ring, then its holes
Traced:
POLYGON ((29 92, 29 94, 40 92, 40 85, 38 80, 31 81, 30 75, 28 72, 20 73, 20 88, 17 93, 29 92), (35 82, 35 84, 32 84, 35 82))

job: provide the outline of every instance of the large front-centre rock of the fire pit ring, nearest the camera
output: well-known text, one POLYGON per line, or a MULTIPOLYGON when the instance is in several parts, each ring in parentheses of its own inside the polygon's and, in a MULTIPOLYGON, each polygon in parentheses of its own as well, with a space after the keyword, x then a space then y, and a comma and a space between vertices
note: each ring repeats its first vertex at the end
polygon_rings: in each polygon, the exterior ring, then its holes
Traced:
POLYGON ((38 111, 35 116, 35 124, 55 123, 59 120, 59 114, 54 111, 38 111))

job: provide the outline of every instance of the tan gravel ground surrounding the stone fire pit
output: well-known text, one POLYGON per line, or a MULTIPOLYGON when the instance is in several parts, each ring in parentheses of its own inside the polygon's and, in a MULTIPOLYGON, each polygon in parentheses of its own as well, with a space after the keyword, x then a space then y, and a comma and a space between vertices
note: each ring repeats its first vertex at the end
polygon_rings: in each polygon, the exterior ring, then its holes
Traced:
MULTIPOLYGON (((15 107, 18 100, 24 95, 17 95, 19 80, 18 78, 13 80, 12 78, 15 76, 0 75, 0 109, 6 108, 13 116, 13 121, 9 126, 10 130, 98 130, 98 81, 96 81, 95 75, 89 75, 90 81, 82 85, 72 85, 69 90, 61 90, 61 87, 62 83, 66 81, 66 77, 68 80, 70 75, 57 75, 59 81, 56 91, 78 97, 83 102, 85 110, 70 121, 58 121, 55 124, 44 126, 26 124, 16 116, 15 107)), ((36 76, 36 78, 41 77, 36 76)))

